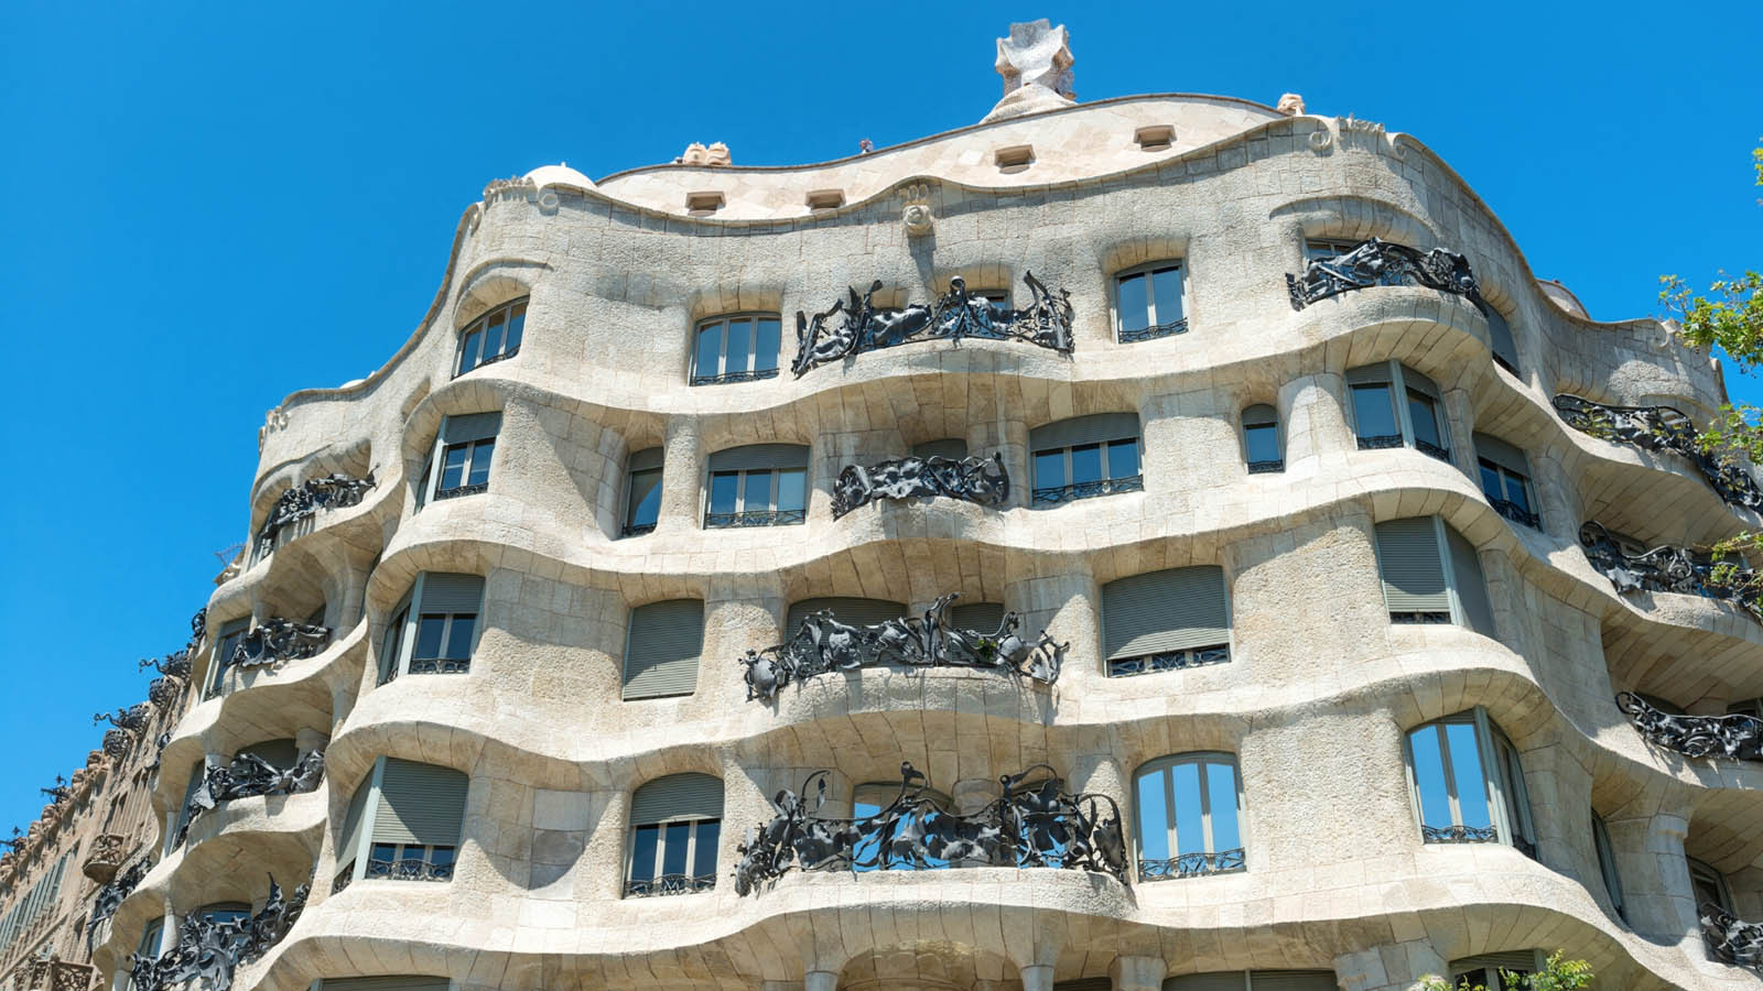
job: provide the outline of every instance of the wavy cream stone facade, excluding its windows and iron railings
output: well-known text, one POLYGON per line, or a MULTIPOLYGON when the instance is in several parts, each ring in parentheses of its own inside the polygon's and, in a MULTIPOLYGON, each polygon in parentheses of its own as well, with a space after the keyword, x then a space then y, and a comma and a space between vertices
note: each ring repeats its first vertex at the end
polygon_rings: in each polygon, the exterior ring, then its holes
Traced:
POLYGON ((1708 959, 1689 868, 1717 869, 1735 912, 1763 919, 1763 769, 1652 749, 1615 704, 1634 689, 1724 712, 1763 695, 1763 628, 1715 600, 1618 596, 1578 538, 1596 518, 1707 545, 1763 520, 1692 466, 1573 430, 1551 407, 1569 391, 1705 418, 1724 400, 1719 367, 1655 321, 1569 312, 1571 294, 1539 286, 1488 206, 1405 134, 1305 115, 1301 99, 1282 101, 1291 113, 1192 95, 1077 104, 1063 28, 1051 53, 1023 34, 1000 46, 1000 69, 1035 49, 1044 67, 1028 79, 1060 88, 1033 83, 1047 106, 1017 97, 993 123, 802 168, 681 162, 596 183, 548 166, 492 183, 388 365, 270 413, 252 534, 309 480, 376 485, 231 575, 208 603, 210 640, 240 619, 316 610, 333 633, 309 658, 219 679, 199 668, 215 689, 178 723, 153 802, 169 829, 194 765, 270 737, 323 749, 324 785, 197 820, 95 954, 118 989, 152 920, 259 908, 264 875, 312 878, 312 898, 242 963, 242 987, 437 975, 510 991, 1151 989, 1310 968, 1372 991, 1557 947, 1606 987, 1763 986, 1708 959), (837 205, 813 208, 813 192, 837 205), (1377 286, 1292 307, 1285 275, 1305 272, 1306 238, 1370 236, 1462 252, 1511 328, 1518 372, 1495 363, 1486 310, 1463 294, 1377 286), (1183 263, 1185 332, 1121 342, 1116 275, 1165 259, 1183 263), (825 312, 848 287, 880 280, 889 305, 929 303, 961 277, 1023 307, 1030 272, 1070 293, 1068 356, 931 339, 790 370, 790 314, 825 312), (457 374, 462 333, 515 300, 518 353, 457 374), (700 321, 746 312, 783 321, 779 372, 689 384, 700 321), (1356 441, 1349 370, 1391 360, 1437 386, 1454 439, 1444 457, 1356 441), (1276 409, 1276 473, 1250 473, 1243 455, 1239 418, 1257 404, 1276 409), (485 488, 418 506, 443 467, 443 425, 492 411, 485 488), (1031 432, 1104 413, 1137 414, 1142 490, 1037 506, 1031 432), (1477 432, 1525 451, 1541 525, 1490 506, 1477 432), (1003 506, 882 499, 834 520, 844 467, 940 439, 998 455, 1003 506), (806 518, 707 529, 710 455, 779 443, 809 450, 806 518), (654 529, 626 536, 633 455, 652 448, 654 529), (1407 517, 1439 517, 1472 547, 1488 630, 1391 622, 1375 527, 1407 517), (1222 568, 1229 661, 1107 677, 1104 587, 1185 566, 1222 568), (411 667, 381 684, 425 573, 483 578, 469 670, 411 667), (880 665, 748 698, 737 661, 795 633, 792 603, 859 596, 922 614, 945 592, 1068 644, 1058 681, 880 665), (703 603, 693 689, 626 700, 631 612, 665 600, 703 603), (1534 857, 1423 841, 1407 734, 1476 707, 1521 762, 1534 857), (1141 850, 1137 769, 1192 751, 1239 769, 1246 869, 1155 882, 797 869, 749 894, 732 883, 748 829, 815 771, 830 772, 825 815, 850 816, 857 786, 897 781, 901 762, 971 813, 1001 776, 1047 764, 1070 792, 1123 809, 1141 850), (340 850, 379 758, 469 778, 444 882, 376 878, 360 846, 340 850), (714 885, 626 898, 633 795, 686 772, 721 781, 714 885), (1627 920, 1601 878, 1594 809, 1627 920))

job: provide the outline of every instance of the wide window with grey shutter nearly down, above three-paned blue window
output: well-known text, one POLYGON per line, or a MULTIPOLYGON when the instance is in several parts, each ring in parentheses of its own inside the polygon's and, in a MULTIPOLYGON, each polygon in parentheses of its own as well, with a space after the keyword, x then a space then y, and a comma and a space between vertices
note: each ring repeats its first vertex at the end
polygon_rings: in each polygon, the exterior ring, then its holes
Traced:
POLYGON ((1224 568, 1171 568, 1102 585, 1102 647, 1109 677, 1229 661, 1224 568))

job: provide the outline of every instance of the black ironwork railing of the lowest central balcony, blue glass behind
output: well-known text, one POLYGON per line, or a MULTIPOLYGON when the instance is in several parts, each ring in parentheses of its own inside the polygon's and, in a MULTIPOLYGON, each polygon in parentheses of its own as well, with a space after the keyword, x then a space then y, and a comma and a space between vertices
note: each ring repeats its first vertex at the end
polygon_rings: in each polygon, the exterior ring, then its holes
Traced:
POLYGON ((890 871, 954 866, 1063 868, 1127 882, 1127 841, 1120 806, 1107 795, 1074 795, 1045 764, 998 778, 1003 794, 986 808, 957 815, 927 792, 929 779, 901 764, 899 795, 862 818, 823 818, 827 771, 802 783, 815 804, 785 788, 777 815, 749 829, 739 845, 735 894, 804 871, 890 871))

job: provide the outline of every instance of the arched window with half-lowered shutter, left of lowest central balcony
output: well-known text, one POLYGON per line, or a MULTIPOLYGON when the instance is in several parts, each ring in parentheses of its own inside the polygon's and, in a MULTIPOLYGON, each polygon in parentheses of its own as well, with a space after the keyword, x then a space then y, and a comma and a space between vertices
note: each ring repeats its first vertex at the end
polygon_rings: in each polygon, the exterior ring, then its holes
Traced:
POLYGON ((709 774, 656 778, 631 797, 624 894, 691 894, 716 887, 723 781, 709 774))

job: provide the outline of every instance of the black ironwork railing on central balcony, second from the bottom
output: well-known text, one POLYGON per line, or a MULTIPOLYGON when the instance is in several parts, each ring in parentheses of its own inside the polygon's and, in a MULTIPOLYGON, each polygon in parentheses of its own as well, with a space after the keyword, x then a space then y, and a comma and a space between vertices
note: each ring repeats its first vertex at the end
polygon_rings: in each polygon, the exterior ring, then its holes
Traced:
POLYGON ((790 640, 748 649, 748 700, 777 698, 783 686, 837 670, 857 670, 887 663, 908 668, 993 668, 1017 677, 1053 684, 1065 663, 1070 644, 1054 644, 1045 631, 1028 642, 1017 635, 1023 617, 1007 612, 998 630, 956 630, 948 626, 948 605, 957 594, 940 596, 924 617, 889 619, 874 626, 846 626, 832 610, 820 610, 802 621, 790 640))

